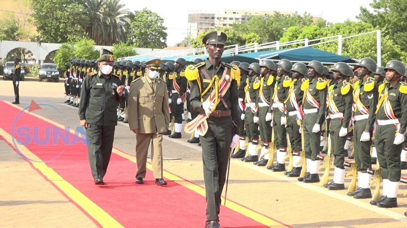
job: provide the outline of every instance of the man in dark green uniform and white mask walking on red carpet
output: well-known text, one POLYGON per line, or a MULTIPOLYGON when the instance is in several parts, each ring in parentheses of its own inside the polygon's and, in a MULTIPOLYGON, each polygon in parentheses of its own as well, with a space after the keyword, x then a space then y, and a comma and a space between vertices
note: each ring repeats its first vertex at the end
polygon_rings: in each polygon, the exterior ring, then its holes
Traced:
POLYGON ((86 129, 89 165, 95 184, 104 184, 113 147, 114 128, 118 124, 117 103, 124 100, 120 79, 111 74, 113 55, 98 58, 99 71, 85 76, 79 104, 80 125, 86 129))

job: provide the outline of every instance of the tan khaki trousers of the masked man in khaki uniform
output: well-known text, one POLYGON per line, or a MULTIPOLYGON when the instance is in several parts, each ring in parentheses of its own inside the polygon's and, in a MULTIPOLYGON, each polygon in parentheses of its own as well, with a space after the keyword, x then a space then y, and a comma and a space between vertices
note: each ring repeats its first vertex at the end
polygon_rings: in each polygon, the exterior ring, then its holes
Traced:
POLYGON ((136 135, 136 178, 146 177, 147 155, 149 153, 150 142, 154 178, 162 178, 162 134, 157 133, 136 135))

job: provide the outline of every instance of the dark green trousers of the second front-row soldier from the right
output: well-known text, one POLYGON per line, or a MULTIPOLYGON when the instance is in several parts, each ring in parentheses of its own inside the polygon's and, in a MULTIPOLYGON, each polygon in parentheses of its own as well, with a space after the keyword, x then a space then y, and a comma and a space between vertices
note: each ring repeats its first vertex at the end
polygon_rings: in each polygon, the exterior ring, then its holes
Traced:
POLYGON ((362 133, 365 131, 366 123, 367 119, 357 120, 355 121, 355 127, 353 129, 353 146, 356 169, 358 172, 362 173, 366 173, 367 169, 371 168, 370 146, 372 144, 371 140, 372 134, 370 133, 369 141, 366 142, 360 141, 360 137, 362 136, 362 133))

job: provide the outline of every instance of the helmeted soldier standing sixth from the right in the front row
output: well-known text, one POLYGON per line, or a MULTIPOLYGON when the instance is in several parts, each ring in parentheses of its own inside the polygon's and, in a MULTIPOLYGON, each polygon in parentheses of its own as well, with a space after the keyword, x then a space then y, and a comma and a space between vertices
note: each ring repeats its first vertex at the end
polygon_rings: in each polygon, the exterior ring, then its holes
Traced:
POLYGON ((273 131, 274 143, 277 148, 277 163, 267 167, 274 172, 285 171, 284 157, 287 155, 287 132, 285 129, 285 106, 284 102, 288 97, 288 90, 291 79, 288 74, 293 67, 293 63, 288 59, 281 59, 277 62, 277 78, 273 94, 273 131))

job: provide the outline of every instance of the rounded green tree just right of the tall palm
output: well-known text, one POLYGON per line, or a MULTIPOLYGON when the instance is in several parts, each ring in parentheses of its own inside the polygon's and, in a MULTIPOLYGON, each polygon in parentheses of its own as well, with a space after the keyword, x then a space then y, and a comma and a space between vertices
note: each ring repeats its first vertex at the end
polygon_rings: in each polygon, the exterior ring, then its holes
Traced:
POLYGON ((134 12, 134 20, 130 25, 130 40, 135 47, 139 48, 165 48, 167 41, 167 29, 158 14, 148 9, 134 12))

